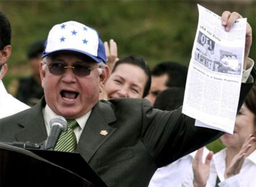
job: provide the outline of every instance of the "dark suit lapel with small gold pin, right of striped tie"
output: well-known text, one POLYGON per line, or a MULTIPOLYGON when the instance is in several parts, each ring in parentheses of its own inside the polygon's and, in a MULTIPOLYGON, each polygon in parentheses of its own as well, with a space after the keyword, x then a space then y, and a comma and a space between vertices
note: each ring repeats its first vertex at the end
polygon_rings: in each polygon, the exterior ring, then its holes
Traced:
POLYGON ((111 106, 98 102, 90 114, 77 145, 77 152, 85 161, 89 162, 97 149, 114 133, 116 129, 108 125, 113 121, 116 121, 116 116, 111 106))

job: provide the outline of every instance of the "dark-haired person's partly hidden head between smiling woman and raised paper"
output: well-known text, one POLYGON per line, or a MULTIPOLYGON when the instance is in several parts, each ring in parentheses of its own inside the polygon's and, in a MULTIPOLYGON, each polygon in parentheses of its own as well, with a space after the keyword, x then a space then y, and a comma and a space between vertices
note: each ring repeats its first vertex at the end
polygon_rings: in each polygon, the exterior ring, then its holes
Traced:
POLYGON ((152 104, 163 90, 185 87, 187 67, 176 62, 161 62, 151 70, 151 87, 147 98, 152 104))

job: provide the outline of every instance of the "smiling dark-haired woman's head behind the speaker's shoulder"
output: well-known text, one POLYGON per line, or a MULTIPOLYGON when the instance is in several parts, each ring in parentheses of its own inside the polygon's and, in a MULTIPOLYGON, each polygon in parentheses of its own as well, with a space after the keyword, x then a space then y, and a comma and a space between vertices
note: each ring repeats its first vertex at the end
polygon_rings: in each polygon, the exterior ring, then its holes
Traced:
POLYGON ((115 63, 104 87, 104 98, 143 98, 148 94, 150 84, 147 62, 142 57, 130 55, 115 63))

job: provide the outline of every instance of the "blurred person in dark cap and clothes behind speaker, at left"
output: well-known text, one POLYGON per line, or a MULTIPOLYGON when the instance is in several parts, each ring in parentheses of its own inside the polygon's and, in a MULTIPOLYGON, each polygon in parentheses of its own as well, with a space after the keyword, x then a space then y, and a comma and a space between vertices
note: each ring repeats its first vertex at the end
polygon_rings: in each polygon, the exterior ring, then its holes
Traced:
POLYGON ((32 75, 28 78, 21 78, 18 81, 18 89, 15 97, 30 106, 38 103, 40 98, 43 97, 39 67, 41 55, 44 50, 45 41, 41 39, 34 41, 30 45, 27 58, 30 69, 32 70, 32 75))

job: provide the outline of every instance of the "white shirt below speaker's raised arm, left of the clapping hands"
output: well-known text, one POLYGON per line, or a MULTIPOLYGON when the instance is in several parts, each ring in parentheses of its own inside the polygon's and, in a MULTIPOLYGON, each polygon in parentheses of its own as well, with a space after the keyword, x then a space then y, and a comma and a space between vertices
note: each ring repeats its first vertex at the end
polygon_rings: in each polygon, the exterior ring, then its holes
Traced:
MULTIPOLYGON (((181 186, 189 173, 193 173, 192 161, 196 151, 181 157, 177 161, 156 170, 150 180, 148 187, 170 187, 181 186)), ((207 148, 203 149, 203 161, 209 153, 207 148)))

